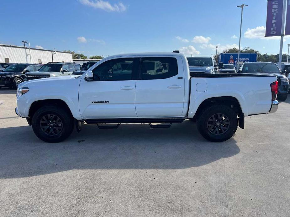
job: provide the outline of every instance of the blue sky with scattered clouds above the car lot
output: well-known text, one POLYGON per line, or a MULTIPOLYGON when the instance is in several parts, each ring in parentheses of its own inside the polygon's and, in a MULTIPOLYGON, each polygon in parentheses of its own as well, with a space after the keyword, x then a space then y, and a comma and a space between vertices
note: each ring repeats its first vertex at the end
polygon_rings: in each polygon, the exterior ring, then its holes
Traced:
MULTIPOLYGON (((279 53, 279 37, 263 37, 266 0, 10 0, 1 6, 5 25, 0 43, 26 40, 32 48, 73 50, 88 57, 173 50, 210 56, 216 45, 218 51, 238 45, 236 6, 242 3, 249 6, 244 8, 241 47, 279 53)), ((286 37, 283 53, 289 42, 286 37)))

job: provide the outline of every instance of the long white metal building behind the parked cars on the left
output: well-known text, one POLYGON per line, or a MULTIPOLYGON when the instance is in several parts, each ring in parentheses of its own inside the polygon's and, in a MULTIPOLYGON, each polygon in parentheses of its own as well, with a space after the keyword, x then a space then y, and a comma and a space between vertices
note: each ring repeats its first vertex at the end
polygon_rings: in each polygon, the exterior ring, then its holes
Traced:
POLYGON ((72 62, 72 53, 0 44, 1 63, 72 62))

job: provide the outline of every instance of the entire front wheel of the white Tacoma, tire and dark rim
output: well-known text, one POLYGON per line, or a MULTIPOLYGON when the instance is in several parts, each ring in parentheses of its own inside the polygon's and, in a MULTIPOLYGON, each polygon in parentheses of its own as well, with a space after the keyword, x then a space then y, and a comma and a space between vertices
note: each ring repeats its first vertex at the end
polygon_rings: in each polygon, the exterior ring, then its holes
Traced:
POLYGON ((58 106, 41 107, 32 117, 35 135, 45 142, 61 142, 69 137, 73 128, 74 120, 71 114, 58 106))

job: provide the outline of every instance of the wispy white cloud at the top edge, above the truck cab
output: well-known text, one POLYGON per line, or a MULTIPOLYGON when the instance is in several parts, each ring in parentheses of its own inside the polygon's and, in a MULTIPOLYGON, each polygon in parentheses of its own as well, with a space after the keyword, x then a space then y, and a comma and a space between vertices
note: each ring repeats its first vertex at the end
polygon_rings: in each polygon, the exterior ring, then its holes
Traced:
POLYGON ((127 9, 127 7, 122 2, 119 2, 118 4, 115 3, 112 5, 111 3, 103 0, 79 0, 79 1, 84 5, 88 5, 93 8, 98 8, 105 11, 124 12, 127 9))

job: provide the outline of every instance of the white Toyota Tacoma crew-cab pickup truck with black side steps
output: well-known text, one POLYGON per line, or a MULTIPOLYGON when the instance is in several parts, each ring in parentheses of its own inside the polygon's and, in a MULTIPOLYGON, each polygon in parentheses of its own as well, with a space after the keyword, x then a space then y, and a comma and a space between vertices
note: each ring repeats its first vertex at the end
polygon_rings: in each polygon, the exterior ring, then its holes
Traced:
POLYGON ((275 112, 277 88, 277 77, 271 75, 190 76, 180 53, 121 54, 99 61, 83 75, 21 83, 15 112, 46 142, 66 139, 84 122, 99 128, 122 123, 160 128, 185 119, 196 120, 205 139, 221 142, 238 125, 244 129, 244 117, 275 112))

